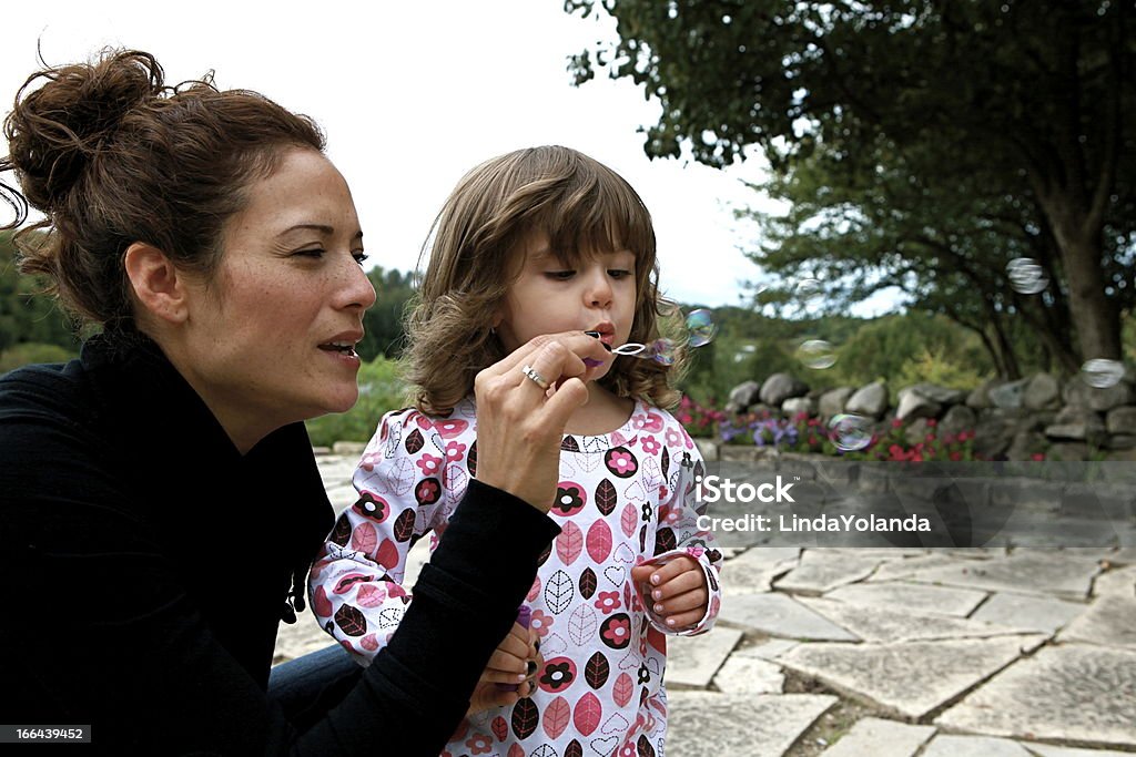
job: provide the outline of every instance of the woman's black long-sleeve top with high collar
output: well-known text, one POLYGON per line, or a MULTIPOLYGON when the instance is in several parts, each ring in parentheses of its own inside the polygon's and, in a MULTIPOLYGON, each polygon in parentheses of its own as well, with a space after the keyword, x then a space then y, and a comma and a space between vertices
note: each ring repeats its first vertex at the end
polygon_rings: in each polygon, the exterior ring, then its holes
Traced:
POLYGON ((559 529, 471 482, 389 648, 298 733, 266 685, 331 525, 303 426, 242 456, 144 337, 3 376, 0 723, 91 724, 87 752, 437 755, 559 529))

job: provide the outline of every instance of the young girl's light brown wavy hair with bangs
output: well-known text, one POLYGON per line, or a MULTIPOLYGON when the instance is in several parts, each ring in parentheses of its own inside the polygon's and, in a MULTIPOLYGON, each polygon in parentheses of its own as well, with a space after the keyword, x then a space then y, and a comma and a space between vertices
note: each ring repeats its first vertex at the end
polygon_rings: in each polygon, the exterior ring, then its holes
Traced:
MULTIPOLYGON (((637 302, 629 340, 659 338, 665 303, 654 229, 635 190, 576 150, 517 150, 466 174, 434 220, 429 263, 407 319, 407 378, 421 412, 448 413, 473 392, 478 371, 504 358, 491 327, 524 262, 515 251, 537 232, 569 266, 598 252, 634 253, 637 302)), ((600 385, 668 407, 679 394, 667 377, 680 375, 685 356, 678 350, 671 365, 624 358, 600 385)))

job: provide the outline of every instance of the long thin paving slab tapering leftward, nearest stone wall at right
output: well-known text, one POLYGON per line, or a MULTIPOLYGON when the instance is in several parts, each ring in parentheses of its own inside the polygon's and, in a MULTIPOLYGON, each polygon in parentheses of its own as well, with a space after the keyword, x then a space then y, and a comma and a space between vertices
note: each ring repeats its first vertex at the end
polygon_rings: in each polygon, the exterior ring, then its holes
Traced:
POLYGON ((944 565, 917 571, 913 581, 970 589, 1054 595, 1084 599, 1100 572, 1095 560, 1064 555, 1056 549, 1022 550, 980 563, 944 565))

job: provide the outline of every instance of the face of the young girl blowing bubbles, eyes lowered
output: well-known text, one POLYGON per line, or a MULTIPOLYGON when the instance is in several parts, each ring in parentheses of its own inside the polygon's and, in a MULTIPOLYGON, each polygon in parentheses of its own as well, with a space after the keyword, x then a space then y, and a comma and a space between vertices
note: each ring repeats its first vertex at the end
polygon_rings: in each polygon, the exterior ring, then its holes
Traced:
MULTIPOLYGON (((576 267, 561 262, 544 234, 521 244, 520 275, 513 280, 494 323, 501 344, 512 352, 535 336, 559 331, 599 331, 619 346, 635 319, 635 255, 627 250, 583 255, 576 267)), ((613 361, 598 369, 603 377, 613 361)))

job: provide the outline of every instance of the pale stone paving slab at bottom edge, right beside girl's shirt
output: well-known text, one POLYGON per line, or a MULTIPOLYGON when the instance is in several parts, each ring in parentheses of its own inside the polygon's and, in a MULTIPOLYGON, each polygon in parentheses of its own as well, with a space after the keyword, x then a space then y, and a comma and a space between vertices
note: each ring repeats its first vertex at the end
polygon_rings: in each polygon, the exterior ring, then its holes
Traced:
POLYGON ((782 757, 837 699, 827 695, 676 691, 667 757, 782 757))

